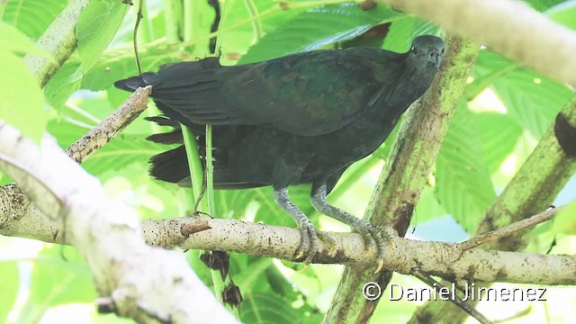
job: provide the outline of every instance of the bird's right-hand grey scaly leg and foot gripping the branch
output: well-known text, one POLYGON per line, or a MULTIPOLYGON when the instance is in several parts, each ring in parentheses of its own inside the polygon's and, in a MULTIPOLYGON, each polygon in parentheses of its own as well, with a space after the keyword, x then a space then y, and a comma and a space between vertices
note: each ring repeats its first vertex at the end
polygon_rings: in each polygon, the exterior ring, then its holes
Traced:
POLYGON ((384 258, 385 250, 385 241, 380 229, 365 220, 355 217, 347 211, 343 211, 336 206, 332 206, 326 200, 326 195, 327 188, 325 183, 320 185, 313 185, 311 193, 312 206, 314 206, 314 208, 317 211, 320 211, 322 214, 335 220, 339 220, 350 226, 356 232, 360 233, 362 238, 365 240, 365 246, 368 250, 371 247, 374 247, 375 242, 378 249, 378 269, 376 272, 380 271, 383 265, 382 260, 384 258))

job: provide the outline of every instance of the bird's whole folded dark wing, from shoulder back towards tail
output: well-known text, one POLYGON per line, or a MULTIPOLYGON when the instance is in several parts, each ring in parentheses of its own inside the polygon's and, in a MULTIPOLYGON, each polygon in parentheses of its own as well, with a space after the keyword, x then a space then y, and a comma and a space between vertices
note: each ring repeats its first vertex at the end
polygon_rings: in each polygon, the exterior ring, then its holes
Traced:
POLYGON ((355 121, 385 96, 401 73, 403 55, 356 48, 234 67, 201 60, 173 64, 144 81, 153 85, 158 107, 184 123, 267 124, 314 136, 355 121))

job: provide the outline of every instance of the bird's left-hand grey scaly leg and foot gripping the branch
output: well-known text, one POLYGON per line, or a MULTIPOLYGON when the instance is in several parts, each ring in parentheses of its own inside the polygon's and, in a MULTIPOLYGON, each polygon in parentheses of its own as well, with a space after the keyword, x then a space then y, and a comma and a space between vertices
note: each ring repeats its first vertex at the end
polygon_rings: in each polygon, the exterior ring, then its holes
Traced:
POLYGON ((284 211, 287 211, 290 216, 292 216, 300 229, 302 241, 300 243, 299 251, 296 254, 296 258, 306 255, 304 265, 310 264, 318 252, 319 245, 318 235, 316 234, 314 225, 312 225, 311 220, 306 217, 304 212, 302 212, 298 206, 290 200, 288 187, 274 188, 274 198, 276 202, 284 208, 284 211))

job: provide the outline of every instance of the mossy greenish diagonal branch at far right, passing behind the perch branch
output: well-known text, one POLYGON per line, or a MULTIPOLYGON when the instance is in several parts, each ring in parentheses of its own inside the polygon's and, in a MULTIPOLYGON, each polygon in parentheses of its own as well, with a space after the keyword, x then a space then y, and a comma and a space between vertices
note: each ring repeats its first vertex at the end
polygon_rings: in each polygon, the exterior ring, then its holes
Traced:
MULTIPOLYGON (((476 235, 482 235, 491 230, 501 229, 518 220, 523 220, 540 211, 545 211, 560 193, 564 185, 576 171, 576 158, 568 152, 571 148, 562 147, 558 137, 570 138, 576 129, 576 96, 567 103, 554 124, 546 131, 538 145, 520 167, 518 173, 509 182, 504 191, 500 193, 482 220, 476 235), (572 127, 561 130, 556 127, 558 121, 566 121, 572 127), (571 131, 572 134, 562 134, 571 131)), ((572 140, 572 145, 576 141, 572 140)), ((573 148, 572 148, 573 149, 573 148)), ((497 241, 493 241, 485 248, 517 251, 527 246, 530 231, 519 233, 497 241)), ((436 321, 450 319, 451 322, 464 321, 462 311, 441 302, 427 302, 419 309, 411 322, 419 319, 436 321)))

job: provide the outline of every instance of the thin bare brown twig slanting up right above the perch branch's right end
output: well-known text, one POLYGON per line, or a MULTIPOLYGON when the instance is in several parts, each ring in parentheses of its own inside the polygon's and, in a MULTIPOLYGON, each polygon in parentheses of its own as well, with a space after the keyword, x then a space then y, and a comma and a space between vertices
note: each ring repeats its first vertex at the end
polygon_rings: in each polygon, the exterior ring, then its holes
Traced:
POLYGON ((545 222, 546 220, 551 220, 554 218, 554 216, 556 216, 558 211, 561 210, 562 207, 549 208, 548 210, 527 218, 526 220, 517 221, 501 229, 491 230, 488 233, 482 234, 480 237, 471 238, 462 243, 458 243, 456 247, 466 251, 474 247, 479 247, 482 244, 486 244, 495 239, 509 237, 510 235, 520 230, 529 229, 533 226, 536 226, 537 224, 545 222))

